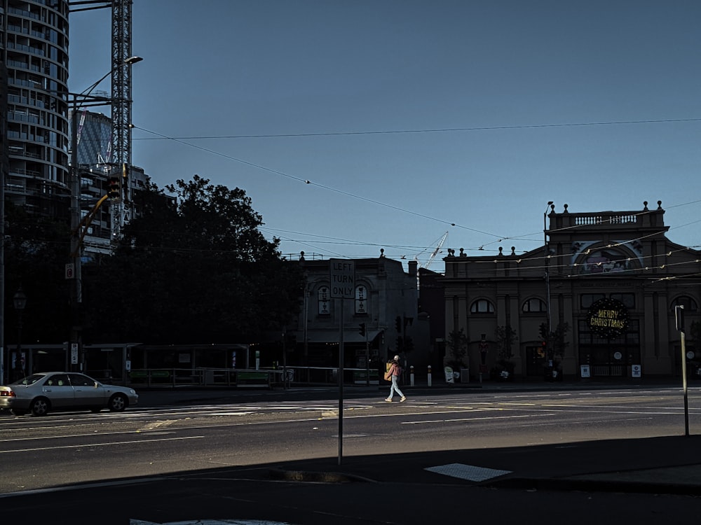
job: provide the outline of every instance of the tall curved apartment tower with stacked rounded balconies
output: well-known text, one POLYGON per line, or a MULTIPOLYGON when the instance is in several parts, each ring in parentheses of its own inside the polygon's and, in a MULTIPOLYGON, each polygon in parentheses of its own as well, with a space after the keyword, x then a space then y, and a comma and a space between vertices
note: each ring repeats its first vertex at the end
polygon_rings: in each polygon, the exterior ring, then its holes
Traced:
POLYGON ((6 198, 39 216, 67 217, 67 0, 0 0, 0 145, 6 198))

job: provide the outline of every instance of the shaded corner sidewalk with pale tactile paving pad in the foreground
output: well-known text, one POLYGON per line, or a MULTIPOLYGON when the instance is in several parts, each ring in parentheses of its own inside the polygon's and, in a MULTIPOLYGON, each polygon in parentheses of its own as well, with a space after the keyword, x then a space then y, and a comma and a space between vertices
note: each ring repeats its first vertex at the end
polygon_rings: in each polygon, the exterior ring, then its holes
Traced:
POLYGON ((294 461, 273 479, 701 496, 701 436, 294 461))

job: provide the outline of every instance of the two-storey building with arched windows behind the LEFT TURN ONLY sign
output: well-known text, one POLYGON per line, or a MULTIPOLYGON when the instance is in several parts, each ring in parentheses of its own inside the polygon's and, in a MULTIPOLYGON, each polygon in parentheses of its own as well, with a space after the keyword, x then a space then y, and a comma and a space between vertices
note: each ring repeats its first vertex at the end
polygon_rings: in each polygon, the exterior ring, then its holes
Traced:
POLYGON ((425 370, 430 350, 428 317, 418 313, 417 262, 409 262, 408 272, 402 261, 384 255, 353 262, 353 300, 334 299, 330 261, 300 258, 306 286, 297 323, 288 329, 296 339, 294 364, 338 365, 343 330, 347 367, 369 366, 375 372, 388 358, 400 354, 405 364, 425 370))

